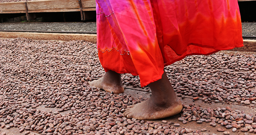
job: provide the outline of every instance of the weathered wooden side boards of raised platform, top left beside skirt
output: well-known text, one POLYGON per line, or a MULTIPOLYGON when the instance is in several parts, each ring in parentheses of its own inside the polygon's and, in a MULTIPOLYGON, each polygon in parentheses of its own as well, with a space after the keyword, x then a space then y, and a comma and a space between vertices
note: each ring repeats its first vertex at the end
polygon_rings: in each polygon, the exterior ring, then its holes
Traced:
MULTIPOLYGON (((95 0, 81 0, 82 11, 95 11, 95 0)), ((27 13, 80 11, 78 0, 27 1, 27 13)), ((0 13, 26 13, 25 2, 0 3, 0 13)))

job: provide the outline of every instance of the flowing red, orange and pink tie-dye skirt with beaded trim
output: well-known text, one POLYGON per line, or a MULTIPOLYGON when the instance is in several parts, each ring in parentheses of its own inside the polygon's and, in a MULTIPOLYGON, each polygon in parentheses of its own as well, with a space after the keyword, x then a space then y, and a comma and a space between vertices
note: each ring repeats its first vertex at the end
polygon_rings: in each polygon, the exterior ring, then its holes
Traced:
POLYGON ((105 71, 139 75, 141 87, 188 55, 242 47, 237 0, 96 0, 105 71))

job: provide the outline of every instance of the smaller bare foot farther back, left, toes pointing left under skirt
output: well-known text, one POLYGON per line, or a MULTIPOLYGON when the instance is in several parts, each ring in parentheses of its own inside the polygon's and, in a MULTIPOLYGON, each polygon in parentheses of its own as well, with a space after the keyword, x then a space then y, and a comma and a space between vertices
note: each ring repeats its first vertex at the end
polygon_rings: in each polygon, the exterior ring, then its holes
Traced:
POLYGON ((103 78, 89 82, 89 85, 101 88, 106 92, 114 92, 115 94, 124 93, 122 86, 121 74, 114 71, 108 71, 103 78))

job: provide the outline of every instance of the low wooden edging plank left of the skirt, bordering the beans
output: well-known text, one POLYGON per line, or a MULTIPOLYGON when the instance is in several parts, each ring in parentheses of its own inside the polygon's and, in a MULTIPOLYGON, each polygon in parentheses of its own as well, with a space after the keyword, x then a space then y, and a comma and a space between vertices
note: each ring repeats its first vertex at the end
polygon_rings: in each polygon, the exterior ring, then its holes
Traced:
POLYGON ((33 40, 85 40, 96 43, 96 34, 60 34, 60 33, 25 33, 25 32, 0 32, 1 38, 29 38, 33 40))

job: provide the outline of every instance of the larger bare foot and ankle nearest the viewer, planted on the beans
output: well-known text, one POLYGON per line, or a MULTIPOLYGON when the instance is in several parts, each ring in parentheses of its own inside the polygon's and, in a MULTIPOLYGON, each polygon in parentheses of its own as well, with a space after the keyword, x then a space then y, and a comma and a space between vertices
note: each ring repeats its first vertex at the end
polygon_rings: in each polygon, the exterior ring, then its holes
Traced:
POLYGON ((127 118, 144 120, 161 119, 180 113, 182 104, 175 94, 165 72, 162 79, 149 84, 152 96, 147 101, 125 109, 127 118))

